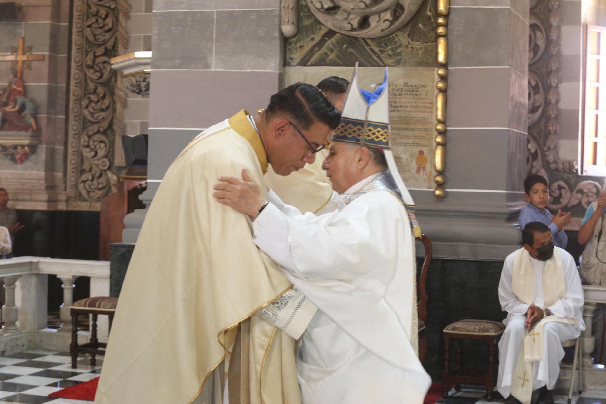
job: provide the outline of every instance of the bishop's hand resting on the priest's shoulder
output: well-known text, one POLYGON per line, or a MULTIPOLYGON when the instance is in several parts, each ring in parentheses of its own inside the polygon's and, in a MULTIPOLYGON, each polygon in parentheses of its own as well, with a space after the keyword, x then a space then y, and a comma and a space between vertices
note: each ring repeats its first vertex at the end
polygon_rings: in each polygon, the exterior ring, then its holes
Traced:
POLYGON ((255 218, 266 201, 261 196, 259 186, 251 180, 246 169, 242 169, 242 180, 235 177, 219 177, 218 180, 221 182, 213 186, 216 191, 213 192, 213 197, 219 203, 255 218))

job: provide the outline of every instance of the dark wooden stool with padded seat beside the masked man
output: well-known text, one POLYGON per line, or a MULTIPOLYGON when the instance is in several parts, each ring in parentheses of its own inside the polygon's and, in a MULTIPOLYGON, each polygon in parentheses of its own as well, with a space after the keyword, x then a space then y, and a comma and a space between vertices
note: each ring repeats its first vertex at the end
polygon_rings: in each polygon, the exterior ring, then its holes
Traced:
POLYGON ((492 392, 494 389, 494 354, 496 344, 505 331, 505 326, 499 322, 489 320, 461 320, 449 324, 444 328, 444 371, 442 372, 442 384, 444 391, 442 397, 448 397, 448 388, 451 383, 455 383, 454 389, 461 391, 460 383, 470 383, 474 385, 486 386, 486 399, 492 401, 492 392), (456 363, 454 371, 450 371, 450 340, 457 341, 456 363), (488 369, 480 371, 479 369, 461 368, 461 355, 463 340, 485 340, 488 344, 488 369))

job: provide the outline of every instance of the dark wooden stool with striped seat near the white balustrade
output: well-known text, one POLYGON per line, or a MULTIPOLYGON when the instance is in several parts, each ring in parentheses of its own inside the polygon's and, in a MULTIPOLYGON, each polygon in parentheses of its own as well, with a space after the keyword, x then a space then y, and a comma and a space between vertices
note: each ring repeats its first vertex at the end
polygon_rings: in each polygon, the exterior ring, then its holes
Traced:
POLYGON ((72 343, 70 344, 70 356, 72 357, 72 368, 78 366, 78 354, 90 354, 90 366, 96 366, 96 355, 104 355, 107 344, 97 339, 97 316, 99 314, 110 317, 110 329, 112 329, 113 316, 118 305, 117 297, 87 297, 73 303, 70 306, 72 314, 72 343), (92 314, 93 322, 90 325, 90 342, 78 345, 78 315, 92 314))

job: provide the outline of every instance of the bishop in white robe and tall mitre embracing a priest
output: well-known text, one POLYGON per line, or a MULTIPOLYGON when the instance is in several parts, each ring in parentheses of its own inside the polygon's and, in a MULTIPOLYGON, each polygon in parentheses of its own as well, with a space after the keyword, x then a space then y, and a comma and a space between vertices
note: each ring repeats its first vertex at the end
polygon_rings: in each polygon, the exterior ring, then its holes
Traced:
POLYGON ((218 201, 254 218, 255 243, 313 303, 297 372, 304 404, 421 404, 412 199, 389 150, 387 70, 375 92, 354 76, 324 169, 345 204, 316 216, 219 178, 218 201))

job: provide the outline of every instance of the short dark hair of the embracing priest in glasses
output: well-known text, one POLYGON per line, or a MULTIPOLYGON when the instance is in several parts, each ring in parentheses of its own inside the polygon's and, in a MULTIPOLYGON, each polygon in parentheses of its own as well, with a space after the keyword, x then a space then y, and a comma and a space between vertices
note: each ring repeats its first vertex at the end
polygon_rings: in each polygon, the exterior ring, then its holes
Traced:
POLYGON ((301 129, 309 129, 316 121, 336 129, 341 121, 341 113, 328 98, 316 87, 304 82, 295 83, 272 95, 265 113, 268 120, 284 114, 301 129))

